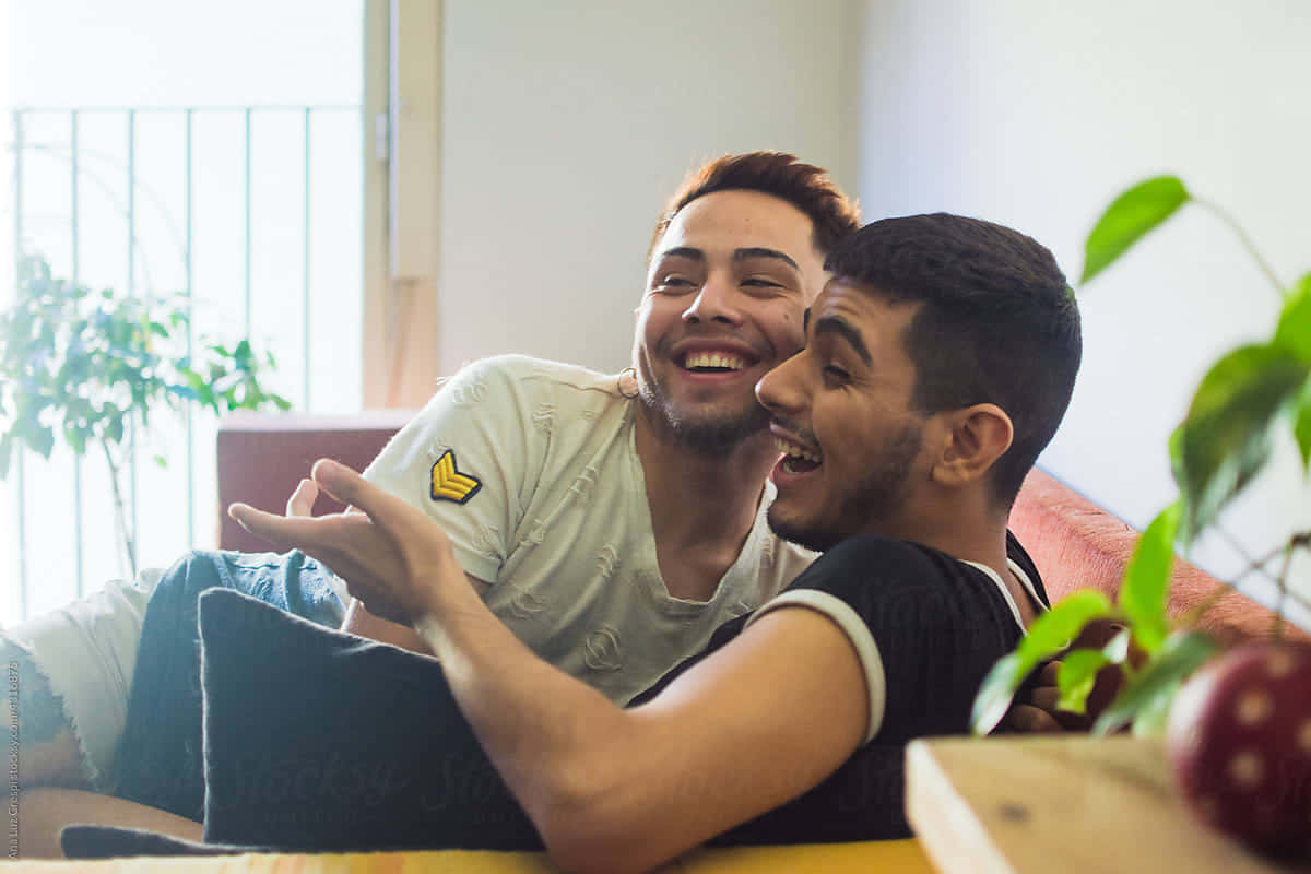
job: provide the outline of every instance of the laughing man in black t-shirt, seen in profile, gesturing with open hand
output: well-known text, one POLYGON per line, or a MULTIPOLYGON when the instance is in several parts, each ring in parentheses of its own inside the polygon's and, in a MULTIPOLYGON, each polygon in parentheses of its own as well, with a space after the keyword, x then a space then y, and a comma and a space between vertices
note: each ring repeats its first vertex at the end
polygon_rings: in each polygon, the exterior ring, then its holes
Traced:
MULTIPOLYGON (((1007 516, 1080 358, 1050 252, 939 214, 876 221, 826 269, 805 349, 756 388, 781 452, 770 523, 825 556, 628 710, 535 659, 463 584, 444 532, 354 472, 320 463, 315 480, 367 518, 232 511, 413 624, 477 755, 565 867, 642 869, 714 836, 905 833, 902 746, 965 731, 979 680, 1045 604, 1007 516)), ((239 819, 222 837, 278 837, 239 819)), ((405 827, 379 840, 434 828, 405 827)))

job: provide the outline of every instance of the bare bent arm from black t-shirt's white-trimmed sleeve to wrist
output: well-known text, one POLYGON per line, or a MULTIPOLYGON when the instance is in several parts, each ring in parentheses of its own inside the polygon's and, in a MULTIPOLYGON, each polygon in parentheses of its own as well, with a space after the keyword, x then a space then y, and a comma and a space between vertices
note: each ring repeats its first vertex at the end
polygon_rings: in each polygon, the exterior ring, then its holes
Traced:
POLYGON ((417 625, 460 710, 566 870, 646 870, 797 797, 869 717, 851 642, 809 609, 763 617, 631 710, 539 660, 480 601, 431 613, 417 625))

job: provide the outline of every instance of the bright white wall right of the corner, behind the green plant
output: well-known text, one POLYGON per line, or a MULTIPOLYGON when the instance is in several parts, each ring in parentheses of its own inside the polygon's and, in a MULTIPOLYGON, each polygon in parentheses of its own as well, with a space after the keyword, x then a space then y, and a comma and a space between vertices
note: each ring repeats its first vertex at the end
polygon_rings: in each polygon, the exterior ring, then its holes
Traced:
MULTIPOLYGON (((1032 233, 1071 279, 1100 211, 1173 172, 1223 204, 1285 282, 1311 270, 1311 7, 868 0, 859 185, 867 218, 947 210, 1032 233)), ((1189 208, 1080 291, 1084 363, 1041 464, 1138 527, 1173 498, 1165 439, 1206 366, 1268 337, 1276 292, 1189 208)), ((1261 554, 1311 527, 1291 440, 1224 525, 1261 554)), ((1243 567, 1218 541, 1200 563, 1243 567)), ((1294 566, 1311 598, 1311 562, 1294 566)), ((1268 591, 1259 591, 1268 598, 1268 591)))

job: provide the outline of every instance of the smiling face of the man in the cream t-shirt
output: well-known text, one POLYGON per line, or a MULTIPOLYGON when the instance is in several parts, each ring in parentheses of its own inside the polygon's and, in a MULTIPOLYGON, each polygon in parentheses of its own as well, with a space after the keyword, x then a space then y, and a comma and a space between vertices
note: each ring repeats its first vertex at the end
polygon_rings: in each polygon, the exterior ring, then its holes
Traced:
POLYGON ((717 455, 763 430, 742 388, 800 347, 797 304, 823 269, 806 216, 762 191, 705 195, 662 225, 633 352, 644 430, 717 455))

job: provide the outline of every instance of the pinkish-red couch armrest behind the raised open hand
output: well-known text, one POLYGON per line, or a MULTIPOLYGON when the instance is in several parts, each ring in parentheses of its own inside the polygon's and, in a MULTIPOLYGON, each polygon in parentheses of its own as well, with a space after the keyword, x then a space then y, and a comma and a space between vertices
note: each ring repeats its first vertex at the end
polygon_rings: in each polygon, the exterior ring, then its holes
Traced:
MULTIPOLYGON (((350 415, 232 413, 219 422, 219 549, 267 552, 269 544, 228 519, 233 501, 282 512, 302 477, 319 459, 363 470, 414 410, 372 410, 350 415)), ((328 511, 329 498, 316 510, 328 511)))

